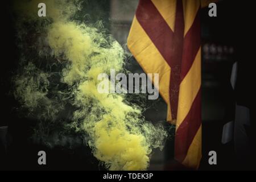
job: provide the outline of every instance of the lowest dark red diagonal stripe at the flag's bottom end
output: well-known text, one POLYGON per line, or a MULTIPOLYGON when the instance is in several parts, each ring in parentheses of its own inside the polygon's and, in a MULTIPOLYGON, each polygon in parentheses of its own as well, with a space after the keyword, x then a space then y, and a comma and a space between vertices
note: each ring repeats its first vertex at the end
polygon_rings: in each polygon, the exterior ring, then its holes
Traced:
POLYGON ((201 126, 201 89, 189 110, 188 115, 176 130, 175 159, 182 162, 187 155, 188 148, 201 126))

